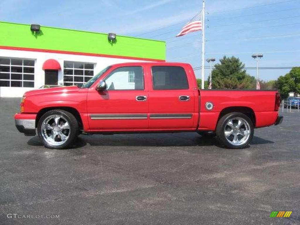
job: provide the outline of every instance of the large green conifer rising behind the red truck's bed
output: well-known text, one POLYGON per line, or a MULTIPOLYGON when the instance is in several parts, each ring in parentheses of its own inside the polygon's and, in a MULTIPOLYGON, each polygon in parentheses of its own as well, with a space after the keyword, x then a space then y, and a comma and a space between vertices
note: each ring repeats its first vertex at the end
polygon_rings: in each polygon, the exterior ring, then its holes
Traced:
POLYGON ((246 73, 245 65, 234 56, 220 59, 212 71, 214 89, 252 89, 256 87, 253 76, 246 73))

